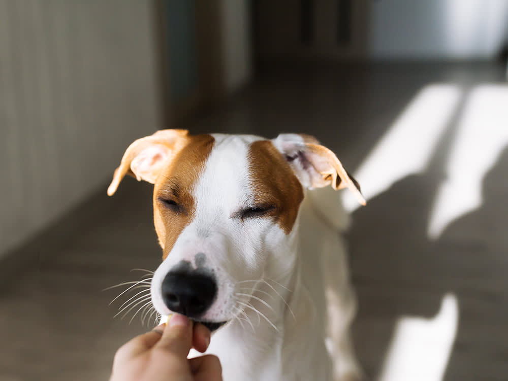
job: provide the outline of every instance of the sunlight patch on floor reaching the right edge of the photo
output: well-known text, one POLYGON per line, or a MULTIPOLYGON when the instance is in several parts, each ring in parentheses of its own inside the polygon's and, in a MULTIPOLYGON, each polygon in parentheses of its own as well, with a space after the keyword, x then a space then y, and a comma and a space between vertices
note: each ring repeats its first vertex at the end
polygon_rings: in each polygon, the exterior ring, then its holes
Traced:
POLYGON ((437 190, 427 234, 437 239, 460 216, 483 202, 482 183, 508 144, 508 86, 481 85, 466 101, 446 166, 446 180, 437 190))

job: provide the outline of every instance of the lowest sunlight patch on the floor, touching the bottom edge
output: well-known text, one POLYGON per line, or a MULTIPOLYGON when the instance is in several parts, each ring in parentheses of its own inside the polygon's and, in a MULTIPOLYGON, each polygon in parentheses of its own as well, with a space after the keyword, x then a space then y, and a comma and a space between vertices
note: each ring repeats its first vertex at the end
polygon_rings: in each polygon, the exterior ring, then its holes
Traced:
POLYGON ((395 326, 379 381, 440 381, 457 334, 459 304, 453 294, 432 319, 402 317, 395 326))

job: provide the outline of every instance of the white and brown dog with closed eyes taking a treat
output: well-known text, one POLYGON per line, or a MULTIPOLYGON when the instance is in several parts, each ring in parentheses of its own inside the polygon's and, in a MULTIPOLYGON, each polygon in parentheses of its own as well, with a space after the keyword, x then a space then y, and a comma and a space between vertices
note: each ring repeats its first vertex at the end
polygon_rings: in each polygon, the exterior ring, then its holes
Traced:
POLYGON ((332 151, 303 134, 167 129, 129 146, 109 195, 125 175, 154 184, 153 306, 213 332, 226 381, 361 378, 335 191, 365 200, 332 151))

